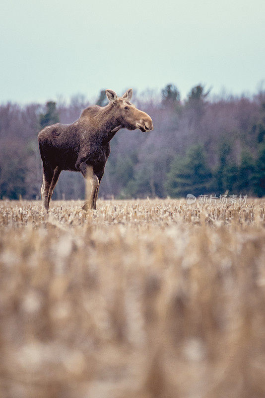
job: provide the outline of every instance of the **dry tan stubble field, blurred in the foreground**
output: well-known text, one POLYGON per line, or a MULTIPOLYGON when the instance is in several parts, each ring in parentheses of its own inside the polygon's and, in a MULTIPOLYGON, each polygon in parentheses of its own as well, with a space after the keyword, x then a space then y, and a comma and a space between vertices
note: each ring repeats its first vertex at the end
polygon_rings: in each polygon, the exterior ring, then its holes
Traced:
POLYGON ((1 398, 264 398, 265 200, 0 201, 1 398))

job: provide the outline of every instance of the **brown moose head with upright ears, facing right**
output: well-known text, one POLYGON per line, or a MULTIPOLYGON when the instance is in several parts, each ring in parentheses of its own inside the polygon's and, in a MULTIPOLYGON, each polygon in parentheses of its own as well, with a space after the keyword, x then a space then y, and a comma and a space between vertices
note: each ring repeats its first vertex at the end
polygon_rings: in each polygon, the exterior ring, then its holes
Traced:
POLYGON ((131 103, 133 90, 129 89, 122 96, 118 97, 113 90, 106 90, 108 100, 112 103, 115 108, 115 117, 117 122, 128 130, 140 129, 142 132, 153 130, 153 122, 151 117, 137 109, 133 103, 131 103))

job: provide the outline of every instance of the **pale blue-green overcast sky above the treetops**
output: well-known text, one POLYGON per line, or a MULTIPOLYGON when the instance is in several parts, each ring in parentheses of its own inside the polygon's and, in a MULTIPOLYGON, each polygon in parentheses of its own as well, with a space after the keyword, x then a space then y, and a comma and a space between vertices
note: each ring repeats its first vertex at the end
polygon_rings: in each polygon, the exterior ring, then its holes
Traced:
POLYGON ((264 0, 1 0, 0 102, 265 81, 264 0))

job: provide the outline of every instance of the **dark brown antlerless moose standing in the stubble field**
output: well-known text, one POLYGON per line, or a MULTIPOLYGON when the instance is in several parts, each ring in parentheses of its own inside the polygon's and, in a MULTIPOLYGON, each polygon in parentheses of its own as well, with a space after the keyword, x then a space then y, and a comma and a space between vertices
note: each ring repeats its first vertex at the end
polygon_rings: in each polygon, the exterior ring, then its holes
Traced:
POLYGON ((86 180, 85 210, 95 209, 99 184, 110 154, 110 140, 118 130, 153 130, 151 117, 130 101, 133 90, 122 97, 106 90, 109 103, 85 108, 72 124, 56 123, 38 134, 43 163, 41 196, 48 211, 50 199, 62 170, 80 171, 86 180))

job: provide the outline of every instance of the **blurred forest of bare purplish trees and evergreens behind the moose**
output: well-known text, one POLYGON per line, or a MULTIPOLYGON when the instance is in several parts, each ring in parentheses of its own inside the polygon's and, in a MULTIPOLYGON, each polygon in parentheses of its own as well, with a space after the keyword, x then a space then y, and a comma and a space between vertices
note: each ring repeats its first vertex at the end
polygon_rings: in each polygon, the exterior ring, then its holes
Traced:
MULTIPOLYGON (((182 98, 174 84, 160 93, 134 92, 132 102, 153 119, 154 130, 120 130, 101 182, 103 199, 265 195, 265 91, 211 95, 199 84, 182 98)), ((0 105, 0 199, 39 199, 42 165, 37 134, 72 123, 93 104, 83 95, 66 101, 0 105)), ((96 103, 107 103, 105 90, 96 103)), ((80 173, 63 172, 53 199, 83 199, 80 173)))

